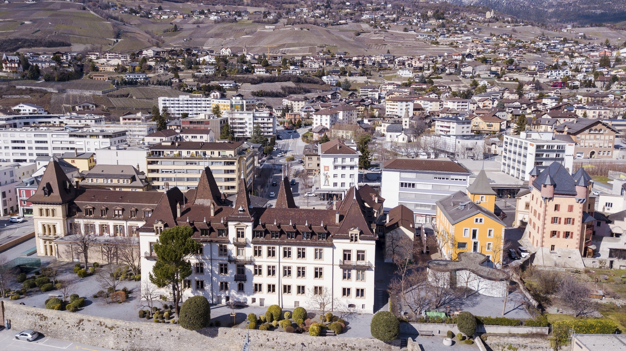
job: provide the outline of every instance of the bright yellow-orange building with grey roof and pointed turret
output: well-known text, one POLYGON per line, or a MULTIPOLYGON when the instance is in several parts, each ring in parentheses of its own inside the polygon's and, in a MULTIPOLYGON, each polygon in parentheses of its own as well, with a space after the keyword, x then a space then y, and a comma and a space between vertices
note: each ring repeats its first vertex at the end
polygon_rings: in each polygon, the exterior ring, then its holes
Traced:
POLYGON ((456 260, 459 252, 480 252, 502 263, 505 224, 493 213, 496 192, 480 171, 467 192, 458 191, 437 201, 435 234, 441 254, 456 260))

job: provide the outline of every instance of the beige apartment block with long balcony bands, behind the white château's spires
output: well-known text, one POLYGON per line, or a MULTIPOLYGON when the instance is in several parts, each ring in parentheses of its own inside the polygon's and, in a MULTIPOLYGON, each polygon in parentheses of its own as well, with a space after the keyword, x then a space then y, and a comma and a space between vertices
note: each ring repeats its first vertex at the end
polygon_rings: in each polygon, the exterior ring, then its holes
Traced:
POLYGON ((210 167, 220 192, 237 192, 237 175, 252 182, 254 155, 242 142, 164 141, 148 146, 148 180, 152 190, 178 187, 183 192, 198 187, 198 174, 210 167))

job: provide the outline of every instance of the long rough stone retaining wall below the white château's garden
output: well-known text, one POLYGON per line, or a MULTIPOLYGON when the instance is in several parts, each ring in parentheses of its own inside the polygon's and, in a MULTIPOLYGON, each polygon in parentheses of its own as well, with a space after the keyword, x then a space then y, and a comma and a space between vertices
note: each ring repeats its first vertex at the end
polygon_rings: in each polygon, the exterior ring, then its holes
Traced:
MULTIPOLYGON (((115 350, 195 350, 239 351, 246 330, 205 328, 183 329, 176 324, 136 323, 67 311, 38 309, 2 301, 4 319, 14 330, 33 329, 46 337, 115 350)), ((258 351, 399 351, 399 340, 385 344, 376 339, 310 337, 304 334, 250 330, 250 349, 258 351)))

